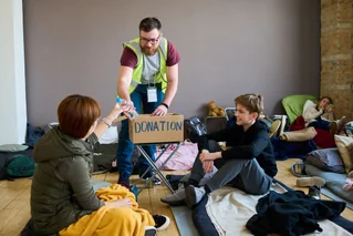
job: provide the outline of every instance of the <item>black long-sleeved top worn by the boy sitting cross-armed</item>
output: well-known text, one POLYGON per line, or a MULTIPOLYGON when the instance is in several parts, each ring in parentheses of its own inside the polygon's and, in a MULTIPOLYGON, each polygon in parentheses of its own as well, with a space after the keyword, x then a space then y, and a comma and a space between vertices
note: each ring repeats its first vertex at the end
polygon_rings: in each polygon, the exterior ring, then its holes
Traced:
POLYGON ((256 158, 264 173, 273 177, 278 170, 268 132, 267 124, 259 120, 246 132, 241 125, 235 124, 232 127, 203 135, 199 138, 198 147, 208 150, 209 140, 230 143, 231 147, 221 152, 224 160, 256 158))

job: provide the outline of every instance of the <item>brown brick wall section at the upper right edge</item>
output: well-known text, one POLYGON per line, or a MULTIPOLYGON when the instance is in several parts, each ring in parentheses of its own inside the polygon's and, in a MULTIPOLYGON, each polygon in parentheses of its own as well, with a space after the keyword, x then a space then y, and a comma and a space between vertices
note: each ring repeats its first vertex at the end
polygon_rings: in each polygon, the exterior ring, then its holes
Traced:
POLYGON ((353 119, 353 0, 321 0, 321 95, 353 119))

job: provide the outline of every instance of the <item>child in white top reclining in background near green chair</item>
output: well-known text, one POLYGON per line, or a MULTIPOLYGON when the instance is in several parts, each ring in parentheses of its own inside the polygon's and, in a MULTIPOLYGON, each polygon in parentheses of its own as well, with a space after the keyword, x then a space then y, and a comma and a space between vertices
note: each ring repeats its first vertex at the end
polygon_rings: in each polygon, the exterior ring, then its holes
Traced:
POLYGON ((345 116, 334 121, 333 102, 330 96, 322 96, 318 104, 308 100, 303 109, 303 119, 305 126, 329 131, 332 136, 340 133, 346 123, 345 116))

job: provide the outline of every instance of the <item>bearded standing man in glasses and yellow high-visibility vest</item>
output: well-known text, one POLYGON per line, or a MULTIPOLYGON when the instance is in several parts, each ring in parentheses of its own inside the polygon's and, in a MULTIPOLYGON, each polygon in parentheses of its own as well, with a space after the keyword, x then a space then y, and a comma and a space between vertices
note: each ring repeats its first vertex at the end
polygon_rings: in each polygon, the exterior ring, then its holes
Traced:
MULTIPOLYGON (((176 48, 160 32, 162 24, 156 18, 145 18, 139 23, 139 38, 124 43, 117 78, 117 95, 134 103, 136 111, 145 114, 163 116, 178 88, 178 63, 180 57, 176 48), (143 105, 143 110, 142 106, 143 105)), ((131 157, 134 144, 128 136, 128 121, 122 122, 117 146, 117 183, 129 188, 129 176, 133 172, 131 157)), ((143 146, 155 160, 156 145, 143 146)), ((149 167, 148 162, 141 157, 139 175, 149 167)), ((153 175, 152 170, 144 177, 153 175)), ((160 184, 158 178, 155 184, 160 184)))

